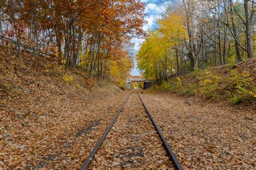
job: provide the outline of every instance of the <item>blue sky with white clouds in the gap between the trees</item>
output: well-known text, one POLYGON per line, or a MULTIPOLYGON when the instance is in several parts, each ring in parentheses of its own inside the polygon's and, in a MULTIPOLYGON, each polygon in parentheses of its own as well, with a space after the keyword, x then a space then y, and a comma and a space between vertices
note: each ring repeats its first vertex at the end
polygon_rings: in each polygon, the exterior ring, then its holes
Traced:
MULTIPOLYGON (((166 9, 166 5, 163 3, 163 0, 142 0, 146 4, 145 8, 145 21, 147 24, 143 26, 143 30, 154 30, 157 28, 157 18, 161 16, 166 9)), ((140 44, 144 42, 145 39, 132 38, 131 42, 134 43, 134 49, 130 51, 134 57, 134 68, 131 71, 132 76, 140 75, 139 70, 137 69, 136 53, 139 51, 140 44)))

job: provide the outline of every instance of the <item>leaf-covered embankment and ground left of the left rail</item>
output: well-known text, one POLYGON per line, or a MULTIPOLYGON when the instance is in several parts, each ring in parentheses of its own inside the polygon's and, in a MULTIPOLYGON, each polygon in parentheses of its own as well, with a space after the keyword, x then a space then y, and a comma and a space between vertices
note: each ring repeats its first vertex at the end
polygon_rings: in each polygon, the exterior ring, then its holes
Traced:
POLYGON ((79 70, 0 56, 0 168, 80 168, 128 94, 79 70))

